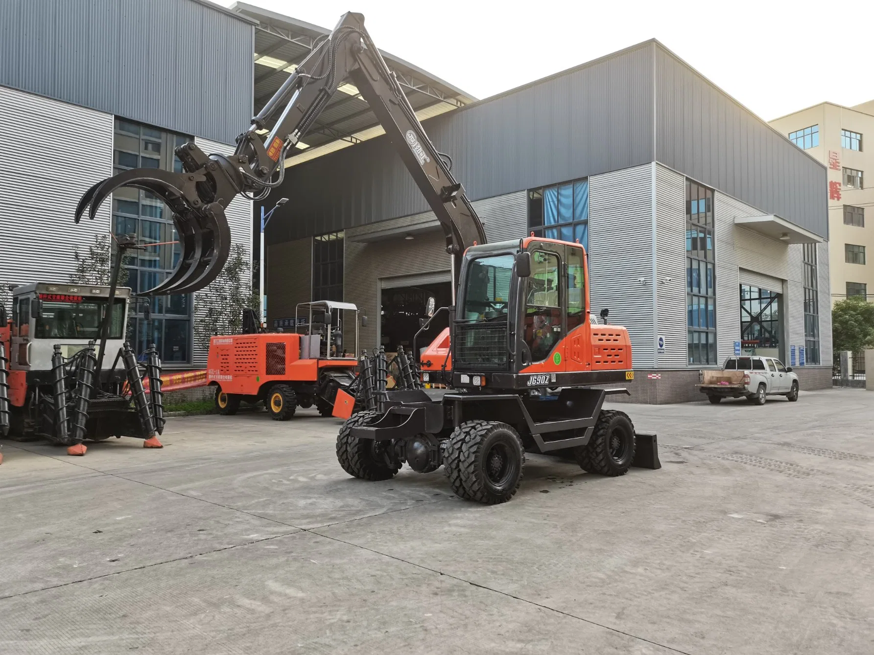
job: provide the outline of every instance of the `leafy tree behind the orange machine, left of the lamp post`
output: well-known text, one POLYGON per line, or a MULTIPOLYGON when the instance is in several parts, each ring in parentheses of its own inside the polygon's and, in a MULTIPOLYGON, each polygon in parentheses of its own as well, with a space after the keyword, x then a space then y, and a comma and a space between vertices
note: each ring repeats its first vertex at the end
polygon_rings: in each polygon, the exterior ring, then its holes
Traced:
POLYGON ((194 297, 194 339, 209 348, 213 334, 239 334, 243 309, 258 311, 258 293, 253 291, 248 253, 242 245, 232 246, 231 254, 218 278, 194 297))

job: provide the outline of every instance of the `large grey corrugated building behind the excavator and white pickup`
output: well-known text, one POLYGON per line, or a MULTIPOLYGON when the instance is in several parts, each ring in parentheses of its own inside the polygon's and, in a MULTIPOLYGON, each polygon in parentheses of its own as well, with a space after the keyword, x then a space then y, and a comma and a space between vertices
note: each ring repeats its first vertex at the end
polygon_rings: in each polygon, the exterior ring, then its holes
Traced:
MULTIPOLYGON (((698 369, 735 352, 830 385, 824 167, 657 41, 424 125, 489 240, 587 245, 593 312, 608 307, 631 334, 634 399, 696 399, 698 369)), ((449 261, 387 139, 295 166, 267 209, 281 196, 292 202, 267 229, 269 319, 342 280, 343 300, 381 317, 364 346, 408 343, 398 326, 440 296, 449 261)))

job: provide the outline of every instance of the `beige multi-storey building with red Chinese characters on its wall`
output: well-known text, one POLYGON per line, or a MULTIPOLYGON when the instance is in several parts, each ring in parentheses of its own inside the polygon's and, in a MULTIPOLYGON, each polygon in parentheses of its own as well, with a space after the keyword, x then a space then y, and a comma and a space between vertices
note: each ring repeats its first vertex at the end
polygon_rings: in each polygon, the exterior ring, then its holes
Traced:
POLYGON ((796 146, 829 167, 831 299, 874 300, 874 100, 833 102, 770 121, 796 146))

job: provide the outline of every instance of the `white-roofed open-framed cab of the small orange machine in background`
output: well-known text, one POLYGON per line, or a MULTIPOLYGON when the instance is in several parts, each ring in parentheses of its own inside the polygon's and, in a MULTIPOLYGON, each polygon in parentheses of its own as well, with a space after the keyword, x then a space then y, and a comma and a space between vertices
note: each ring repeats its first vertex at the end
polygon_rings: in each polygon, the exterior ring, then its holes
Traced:
POLYGON ((350 302, 333 300, 298 303, 295 331, 302 334, 301 359, 354 358, 358 350, 358 308, 350 302))

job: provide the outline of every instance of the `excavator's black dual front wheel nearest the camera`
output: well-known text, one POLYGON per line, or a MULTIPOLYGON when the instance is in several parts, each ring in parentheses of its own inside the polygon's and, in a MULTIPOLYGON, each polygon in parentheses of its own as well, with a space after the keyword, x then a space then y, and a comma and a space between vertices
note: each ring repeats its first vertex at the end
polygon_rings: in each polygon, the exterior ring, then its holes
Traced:
POLYGON ((517 492, 525 466, 522 439, 510 425, 468 421, 447 440, 443 465, 453 493, 465 500, 496 505, 517 492))

